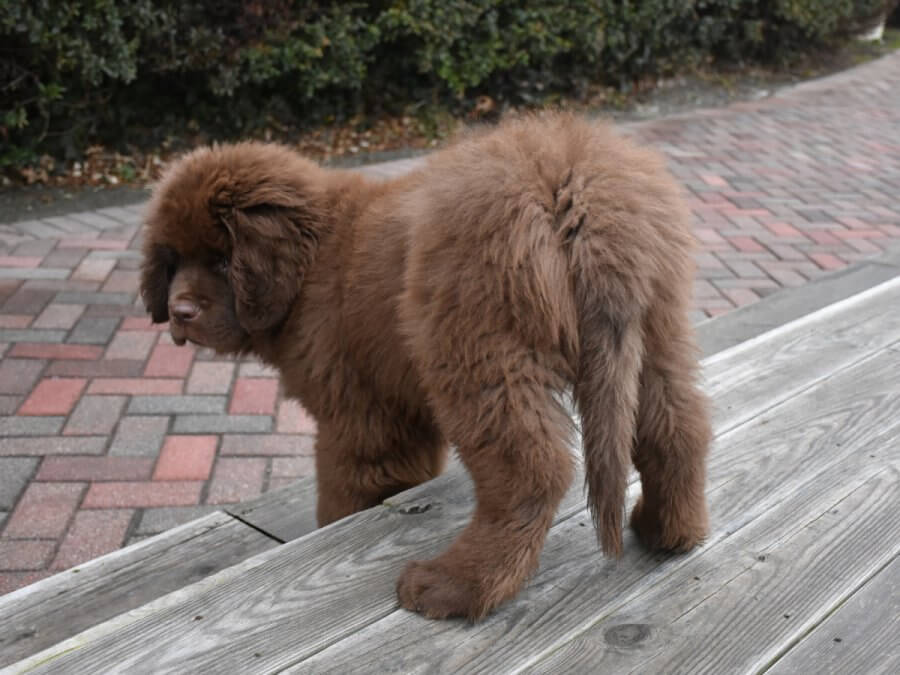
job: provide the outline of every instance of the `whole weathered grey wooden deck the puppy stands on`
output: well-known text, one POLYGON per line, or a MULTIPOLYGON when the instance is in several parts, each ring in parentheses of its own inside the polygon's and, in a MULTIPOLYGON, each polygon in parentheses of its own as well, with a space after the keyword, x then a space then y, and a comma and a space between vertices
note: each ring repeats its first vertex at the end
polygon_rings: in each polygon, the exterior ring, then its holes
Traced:
MULTIPOLYGON (((309 533, 308 485, 0 598, 0 664, 53 673, 900 672, 900 277, 704 360, 713 530, 604 559, 580 485, 484 622, 398 608, 465 524, 459 466, 309 533), (287 542, 281 544, 280 542, 287 542)), ((632 480, 629 503, 639 485, 632 480)))

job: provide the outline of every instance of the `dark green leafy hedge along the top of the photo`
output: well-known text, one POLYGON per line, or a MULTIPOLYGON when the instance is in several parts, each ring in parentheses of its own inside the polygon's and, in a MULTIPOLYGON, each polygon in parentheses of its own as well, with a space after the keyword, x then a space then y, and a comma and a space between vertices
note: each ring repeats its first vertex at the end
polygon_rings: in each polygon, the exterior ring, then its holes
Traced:
POLYGON ((781 58, 895 0, 0 0, 0 167, 781 58))

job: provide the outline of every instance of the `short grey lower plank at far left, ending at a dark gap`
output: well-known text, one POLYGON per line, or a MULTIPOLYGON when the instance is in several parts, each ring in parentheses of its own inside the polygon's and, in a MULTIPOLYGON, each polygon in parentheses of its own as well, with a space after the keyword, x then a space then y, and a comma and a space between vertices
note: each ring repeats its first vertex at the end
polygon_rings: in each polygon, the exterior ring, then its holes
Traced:
POLYGON ((278 543, 221 512, 0 597, 0 666, 278 543))

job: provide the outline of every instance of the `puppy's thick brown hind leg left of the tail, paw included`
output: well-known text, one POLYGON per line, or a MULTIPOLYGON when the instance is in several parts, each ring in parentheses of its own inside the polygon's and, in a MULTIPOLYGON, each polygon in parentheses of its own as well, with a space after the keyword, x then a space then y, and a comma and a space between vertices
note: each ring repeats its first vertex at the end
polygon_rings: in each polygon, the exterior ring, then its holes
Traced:
POLYGON ((447 551, 410 563, 400 603, 429 618, 477 620, 536 569, 571 482, 571 420, 554 395, 556 369, 512 333, 443 341, 423 363, 442 430, 475 484, 472 520, 447 551), (476 356, 476 354, 480 356, 476 356))

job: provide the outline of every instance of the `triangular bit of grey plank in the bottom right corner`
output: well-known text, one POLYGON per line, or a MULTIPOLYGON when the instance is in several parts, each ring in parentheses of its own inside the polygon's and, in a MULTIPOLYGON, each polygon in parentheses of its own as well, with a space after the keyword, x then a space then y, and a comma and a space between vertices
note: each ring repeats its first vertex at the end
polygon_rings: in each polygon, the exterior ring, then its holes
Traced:
POLYGON ((900 558, 869 579, 766 672, 900 673, 900 558))

